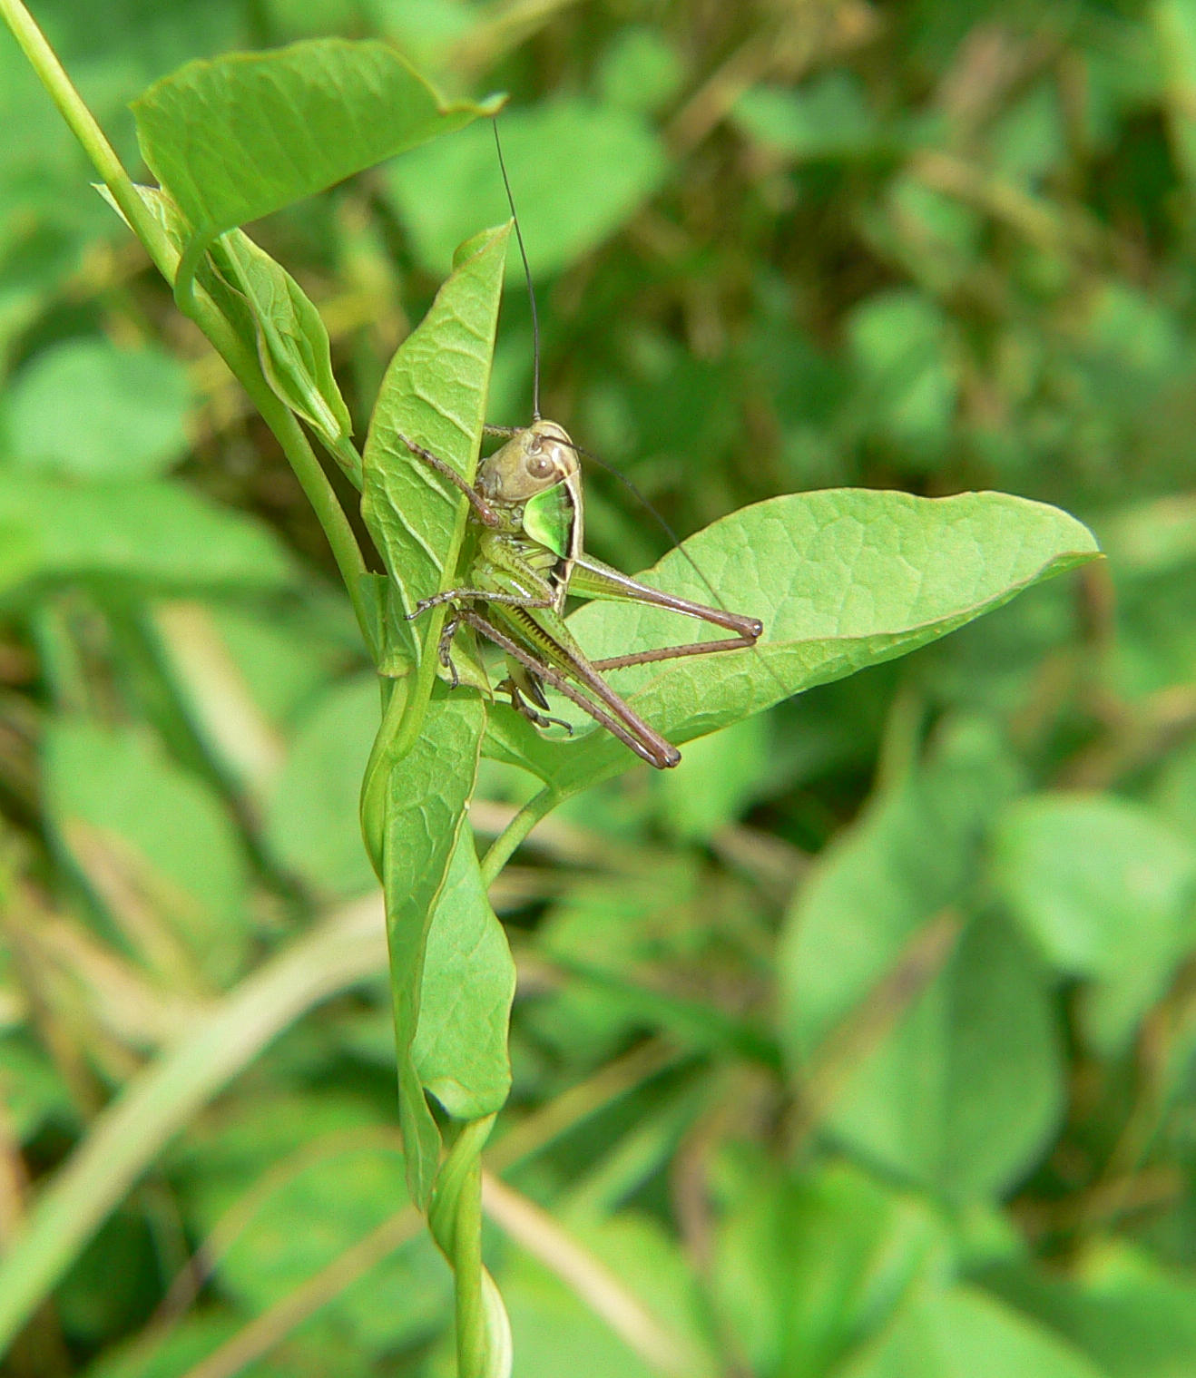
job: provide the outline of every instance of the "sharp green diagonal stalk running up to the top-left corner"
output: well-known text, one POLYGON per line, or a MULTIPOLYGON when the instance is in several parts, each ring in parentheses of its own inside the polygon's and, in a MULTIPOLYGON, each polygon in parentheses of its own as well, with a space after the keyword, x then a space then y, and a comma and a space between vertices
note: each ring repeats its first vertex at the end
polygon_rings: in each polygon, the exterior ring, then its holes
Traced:
MULTIPOLYGON (((165 230, 142 201, 132 179, 116 156, 116 150, 105 138, 103 130, 96 124, 91 110, 84 105, 83 96, 76 91, 54 50, 45 41, 45 34, 37 28, 21 0, 0 0, 0 15, 12 30, 12 36, 50 98, 58 106, 72 134, 83 145, 83 150, 91 158, 134 234, 145 245, 154 267, 167 282, 174 284, 179 269, 178 249, 169 243, 165 230)), ((360 580, 360 576, 365 573, 365 558, 357 544, 357 537, 353 535, 349 518, 336 500, 328 475, 307 442, 307 437, 291 411, 270 390, 258 360, 241 343, 212 299, 205 292, 197 291, 189 296, 189 305, 192 310, 187 314, 240 380, 282 446, 282 452, 324 528, 328 544, 332 547, 332 555, 340 577, 344 580, 361 634, 371 650, 375 650, 360 580)))

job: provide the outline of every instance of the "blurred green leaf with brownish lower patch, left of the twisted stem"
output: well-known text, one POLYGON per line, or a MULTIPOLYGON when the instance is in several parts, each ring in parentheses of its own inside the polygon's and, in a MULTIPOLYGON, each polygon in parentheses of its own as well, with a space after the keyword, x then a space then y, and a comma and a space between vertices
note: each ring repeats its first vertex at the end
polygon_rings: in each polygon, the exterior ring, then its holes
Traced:
POLYGON ((54 719, 44 751, 59 845, 142 960, 185 989, 192 965, 227 984, 252 930, 245 856, 220 802, 132 729, 54 719))

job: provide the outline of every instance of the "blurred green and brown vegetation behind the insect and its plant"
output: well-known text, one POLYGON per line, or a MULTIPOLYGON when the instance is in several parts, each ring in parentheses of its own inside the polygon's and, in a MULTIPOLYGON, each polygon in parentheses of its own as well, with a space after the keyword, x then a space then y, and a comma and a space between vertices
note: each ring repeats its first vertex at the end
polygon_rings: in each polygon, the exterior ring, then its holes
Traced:
MULTIPOLYGON (((375 34, 510 90, 544 411, 682 533, 999 488, 1108 553, 579 796, 504 871, 491 1167, 547 1211, 491 1199, 515 1372, 1196 1371, 1196 3, 36 12, 131 165, 125 102, 236 47, 375 34)), ((372 668, 7 34, 0 112, 0 1257, 47 1189, 70 1242, 4 1372, 444 1374, 372 668)), ((489 138, 255 230, 358 431, 504 218, 489 138)), ((529 391, 513 273, 492 419, 529 391)), ((602 471, 586 515, 620 568, 663 548, 602 471)), ((525 796, 486 766, 475 828, 525 796)))

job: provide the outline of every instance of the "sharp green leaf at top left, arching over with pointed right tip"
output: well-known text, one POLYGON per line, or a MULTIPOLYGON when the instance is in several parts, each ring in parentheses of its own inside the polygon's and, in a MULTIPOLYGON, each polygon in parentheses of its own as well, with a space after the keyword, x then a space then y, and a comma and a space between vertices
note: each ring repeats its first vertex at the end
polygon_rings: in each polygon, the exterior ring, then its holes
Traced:
POLYGON ((211 240, 497 103, 442 101, 387 44, 314 39, 189 62, 132 110, 150 171, 211 240))

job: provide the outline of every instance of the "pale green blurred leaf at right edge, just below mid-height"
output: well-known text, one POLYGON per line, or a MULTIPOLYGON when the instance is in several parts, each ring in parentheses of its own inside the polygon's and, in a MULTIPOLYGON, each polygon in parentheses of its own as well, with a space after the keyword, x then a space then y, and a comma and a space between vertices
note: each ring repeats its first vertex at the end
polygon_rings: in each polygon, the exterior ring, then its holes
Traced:
POLYGON ((993 881, 1058 971, 1098 983, 1097 1047, 1124 1046, 1196 937, 1196 849, 1142 805, 1046 794, 1002 819, 993 881))

